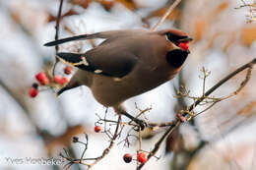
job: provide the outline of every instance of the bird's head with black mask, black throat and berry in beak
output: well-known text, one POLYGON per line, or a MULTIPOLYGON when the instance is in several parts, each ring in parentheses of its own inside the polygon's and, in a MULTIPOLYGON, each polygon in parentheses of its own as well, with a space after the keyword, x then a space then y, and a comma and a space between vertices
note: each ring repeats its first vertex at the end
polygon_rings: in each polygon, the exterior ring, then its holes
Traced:
POLYGON ((189 42, 193 39, 178 29, 165 29, 162 35, 170 42, 169 51, 165 56, 167 62, 174 68, 179 68, 190 53, 189 42))

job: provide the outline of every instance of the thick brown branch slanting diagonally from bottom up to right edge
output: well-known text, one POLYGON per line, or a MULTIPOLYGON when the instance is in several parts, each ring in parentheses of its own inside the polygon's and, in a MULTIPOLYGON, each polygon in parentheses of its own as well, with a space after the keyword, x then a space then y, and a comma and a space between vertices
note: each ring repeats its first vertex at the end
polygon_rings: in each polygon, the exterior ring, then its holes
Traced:
MULTIPOLYGON (((242 72, 245 69, 250 69, 253 67, 253 65, 256 64, 256 58, 254 58, 252 61, 250 61, 249 63, 239 67, 238 69, 236 69, 234 72, 230 73, 229 75, 227 75, 223 80, 221 80, 218 84, 214 85, 213 87, 211 87, 202 97, 200 97, 199 99, 197 99, 192 105, 190 105, 188 111, 191 112, 194 110, 194 108, 200 104, 208 95, 210 95, 212 92, 214 92, 217 88, 219 88, 221 85, 224 85, 224 83, 226 83, 228 80, 230 80, 232 77, 236 76, 238 73, 242 72)), ((248 81, 247 81, 248 82, 248 81)), ((244 85, 243 85, 244 86, 244 85)), ((184 116, 189 115, 189 113, 186 113, 184 116)), ((173 125, 170 126, 167 131, 161 136, 160 140, 158 142, 156 142, 155 147, 153 148, 153 150, 150 152, 150 154, 148 155, 148 160, 152 157, 155 156, 155 154, 157 153, 157 151, 160 149, 160 144, 165 140, 166 137, 168 137, 174 130, 176 127, 178 127, 179 125, 181 125, 183 122, 176 118, 173 121, 173 125)), ((137 170, 140 170, 142 167, 144 166, 144 164, 142 163, 137 170)))

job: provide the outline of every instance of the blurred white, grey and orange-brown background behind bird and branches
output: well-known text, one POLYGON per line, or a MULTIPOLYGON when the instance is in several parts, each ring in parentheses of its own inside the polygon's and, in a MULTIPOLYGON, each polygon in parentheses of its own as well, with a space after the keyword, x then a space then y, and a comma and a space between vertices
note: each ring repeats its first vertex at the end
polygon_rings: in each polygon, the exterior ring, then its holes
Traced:
MULTIPOLYGON (((94 132, 96 114, 105 108, 91 91, 78 87, 55 97, 55 91, 42 88, 32 98, 29 89, 34 75, 49 70, 55 61, 54 47, 43 44, 55 36, 59 0, 0 0, 0 169, 61 169, 58 166, 26 164, 26 158, 55 158, 62 148, 79 158, 83 145, 72 137, 89 135, 86 157, 96 157, 108 145, 105 135, 94 132), (16 161, 12 162, 10 159, 16 161)), ((174 97, 173 86, 185 85, 193 96, 202 94, 202 67, 211 71, 206 88, 247 63, 256 55, 256 24, 252 7, 240 7, 242 0, 182 0, 160 28, 180 28, 194 38, 191 54, 179 76, 173 81, 126 102, 128 111, 138 114, 138 107, 153 109, 147 114, 152 122, 166 122, 175 111, 191 104, 174 97), (251 10, 251 12, 250 12, 251 10), (249 17, 248 17, 249 16, 249 17), (252 21, 250 21, 252 20, 252 21)), ((153 28, 172 0, 64 0, 59 36, 93 33, 122 28, 153 28)), ((159 29, 160 29, 159 28, 159 29)), ((60 51, 87 51, 96 41, 79 41, 60 45, 60 51)), ((58 63, 56 75, 63 75, 65 65, 58 63)), ((72 74, 75 73, 75 69, 72 74)), ((72 76, 69 75, 68 77, 72 76)), ((236 96, 218 103, 193 121, 180 126, 160 147, 160 160, 151 159, 144 169, 153 170, 253 170, 256 166, 256 71, 248 85, 236 96)), ((234 91, 245 73, 220 87, 214 95, 234 91)), ((203 108, 197 108, 197 111, 203 108)), ((116 120, 111 109, 107 117, 116 120)), ((162 131, 150 134, 143 149, 150 150, 162 131)), ((121 139, 124 137, 121 137, 121 139)), ((121 141, 120 139, 120 141, 121 141)), ((94 169, 135 169, 136 162, 126 164, 126 152, 136 154, 138 142, 129 148, 116 145, 94 169)), ((87 169, 74 165, 70 169, 87 169)))

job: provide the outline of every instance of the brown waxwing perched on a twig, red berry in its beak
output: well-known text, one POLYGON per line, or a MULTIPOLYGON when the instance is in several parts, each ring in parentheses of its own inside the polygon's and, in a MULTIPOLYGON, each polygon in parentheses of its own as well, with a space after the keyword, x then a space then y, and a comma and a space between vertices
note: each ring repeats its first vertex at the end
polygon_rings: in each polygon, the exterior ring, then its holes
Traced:
POLYGON ((86 85, 97 102, 112 107, 118 115, 130 118, 144 129, 147 124, 127 113, 124 102, 172 80, 187 59, 193 39, 174 28, 119 29, 71 36, 44 46, 96 38, 104 40, 85 53, 56 53, 60 61, 79 68, 57 95, 86 85))

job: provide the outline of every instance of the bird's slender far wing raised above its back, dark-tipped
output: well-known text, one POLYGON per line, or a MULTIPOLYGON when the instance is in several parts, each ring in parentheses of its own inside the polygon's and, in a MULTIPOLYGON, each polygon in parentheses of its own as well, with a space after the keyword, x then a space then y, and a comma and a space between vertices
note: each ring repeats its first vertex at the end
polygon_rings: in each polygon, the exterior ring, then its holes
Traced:
POLYGON ((44 44, 44 46, 55 46, 58 44, 62 44, 69 41, 74 40, 85 40, 85 39, 95 39, 95 38, 103 38, 103 39, 112 39, 118 38, 122 36, 131 36, 149 32, 147 29, 122 29, 122 30, 109 30, 109 31, 101 31, 92 34, 81 34, 77 36, 66 37, 63 39, 58 39, 54 41, 50 41, 44 44))

